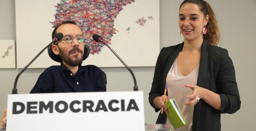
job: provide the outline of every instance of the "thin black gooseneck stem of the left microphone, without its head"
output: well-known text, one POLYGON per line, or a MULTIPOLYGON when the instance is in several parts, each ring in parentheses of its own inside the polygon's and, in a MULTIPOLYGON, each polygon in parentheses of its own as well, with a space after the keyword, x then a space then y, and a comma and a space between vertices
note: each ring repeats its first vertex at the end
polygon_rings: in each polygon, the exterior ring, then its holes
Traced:
MULTIPOLYGON (((62 39, 62 38, 61 38, 61 39, 62 39)), ((34 59, 32 59, 31 62, 29 62, 28 65, 25 66, 25 67, 21 70, 21 72, 19 72, 19 74, 16 76, 16 79, 15 79, 15 81, 14 81, 14 87, 13 87, 13 89, 12 89, 12 94, 18 94, 18 92, 17 92, 17 82, 18 82, 19 76, 21 76, 22 72, 24 72, 24 71, 28 68, 28 66, 30 66, 30 64, 32 64, 32 63, 36 60, 36 58, 37 58, 39 55, 41 55, 45 49, 48 48, 48 46, 50 46, 51 44, 53 44, 54 42, 57 42, 57 41, 58 41, 58 40, 54 39, 50 44, 48 44, 45 48, 43 48, 43 50, 41 50, 41 51, 34 57, 34 59)))

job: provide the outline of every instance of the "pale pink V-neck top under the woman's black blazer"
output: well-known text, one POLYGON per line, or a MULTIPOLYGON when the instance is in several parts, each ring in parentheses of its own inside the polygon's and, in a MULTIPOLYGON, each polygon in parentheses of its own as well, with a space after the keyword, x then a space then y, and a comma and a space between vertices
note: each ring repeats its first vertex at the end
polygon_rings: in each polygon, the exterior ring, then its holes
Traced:
MULTIPOLYGON (((185 102, 190 101, 186 96, 192 94, 192 89, 185 87, 185 84, 197 85, 199 66, 197 66, 194 71, 190 72, 189 75, 183 76, 178 70, 177 57, 171 66, 170 71, 166 77, 168 97, 175 97, 180 110, 185 118, 186 125, 178 129, 173 129, 174 131, 192 131, 192 120, 194 106, 187 106, 185 102)), ((166 124, 171 125, 169 119, 167 118, 166 124)))

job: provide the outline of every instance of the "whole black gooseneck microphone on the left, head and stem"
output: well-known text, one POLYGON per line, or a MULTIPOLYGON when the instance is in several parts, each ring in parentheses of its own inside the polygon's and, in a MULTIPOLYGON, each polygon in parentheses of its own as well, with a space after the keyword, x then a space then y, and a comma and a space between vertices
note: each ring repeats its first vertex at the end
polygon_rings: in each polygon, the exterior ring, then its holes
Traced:
POLYGON ((15 81, 14 81, 14 87, 13 87, 13 89, 12 89, 12 94, 17 94, 17 82, 18 82, 18 79, 19 79, 19 76, 21 75, 21 73, 24 72, 24 71, 28 68, 28 66, 29 66, 30 64, 32 64, 32 62, 34 62, 34 61, 36 60, 36 58, 37 58, 39 55, 41 55, 45 49, 48 48, 48 46, 50 46, 50 45, 52 45, 52 44, 55 44, 56 42, 60 41, 62 38, 63 38, 63 34, 62 34, 62 33, 58 33, 58 34, 54 37, 54 39, 52 40, 52 42, 51 42, 50 44, 48 44, 43 50, 41 50, 41 51, 36 55, 36 57, 35 57, 34 59, 32 59, 31 62, 29 62, 28 65, 25 66, 25 67, 21 70, 21 72, 19 72, 19 74, 16 76, 16 79, 15 79, 15 81))

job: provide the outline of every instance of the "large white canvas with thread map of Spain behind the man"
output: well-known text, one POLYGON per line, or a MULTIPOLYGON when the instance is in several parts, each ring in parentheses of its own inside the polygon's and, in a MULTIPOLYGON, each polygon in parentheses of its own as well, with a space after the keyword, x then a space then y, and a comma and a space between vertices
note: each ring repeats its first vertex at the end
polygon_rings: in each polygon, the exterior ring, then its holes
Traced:
MULTIPOLYGON (((98 34, 128 66, 155 66, 160 48, 157 0, 16 0, 17 67, 49 44, 54 26, 66 20, 80 26, 90 47, 83 65, 123 67, 111 50, 92 39, 98 34)), ((58 63, 45 50, 30 67, 52 65, 58 63)))

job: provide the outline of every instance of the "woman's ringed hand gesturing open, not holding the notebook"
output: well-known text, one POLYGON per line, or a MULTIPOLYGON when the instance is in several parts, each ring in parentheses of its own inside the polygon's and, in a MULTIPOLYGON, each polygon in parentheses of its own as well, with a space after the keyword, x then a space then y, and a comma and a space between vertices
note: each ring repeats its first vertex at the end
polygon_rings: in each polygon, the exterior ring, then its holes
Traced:
POLYGON ((191 95, 186 96, 187 99, 191 100, 186 102, 185 105, 194 106, 195 104, 197 104, 197 102, 199 102, 199 99, 201 98, 204 92, 204 88, 191 84, 185 84, 185 87, 188 87, 193 91, 191 95))

